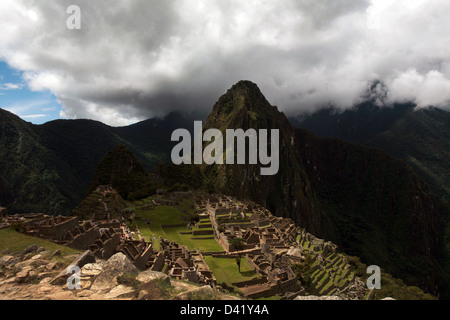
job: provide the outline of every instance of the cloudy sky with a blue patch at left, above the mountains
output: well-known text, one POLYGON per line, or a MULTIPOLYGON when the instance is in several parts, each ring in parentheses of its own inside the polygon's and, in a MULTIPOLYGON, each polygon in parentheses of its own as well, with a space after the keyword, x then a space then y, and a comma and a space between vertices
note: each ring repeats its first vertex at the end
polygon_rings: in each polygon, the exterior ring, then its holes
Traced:
POLYGON ((374 80, 385 103, 450 110, 449 32, 448 0, 1 0, 0 107, 120 126, 209 111, 245 79, 289 114, 374 80))

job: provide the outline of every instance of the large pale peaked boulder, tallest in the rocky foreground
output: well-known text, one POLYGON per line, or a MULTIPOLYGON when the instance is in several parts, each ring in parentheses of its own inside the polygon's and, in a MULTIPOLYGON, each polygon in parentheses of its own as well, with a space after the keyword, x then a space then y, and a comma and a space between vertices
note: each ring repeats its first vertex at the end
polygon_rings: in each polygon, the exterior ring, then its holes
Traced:
POLYGON ((103 271, 94 280, 91 290, 109 291, 118 286, 117 277, 138 273, 139 270, 126 255, 121 252, 116 253, 103 265, 103 271))

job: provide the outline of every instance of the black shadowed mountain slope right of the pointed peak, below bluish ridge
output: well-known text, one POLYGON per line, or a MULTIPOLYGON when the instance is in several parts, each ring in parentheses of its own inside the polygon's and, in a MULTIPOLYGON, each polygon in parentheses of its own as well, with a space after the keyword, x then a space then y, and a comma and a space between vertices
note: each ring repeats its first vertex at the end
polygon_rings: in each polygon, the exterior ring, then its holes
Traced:
POLYGON ((326 238, 435 292, 444 229, 440 204, 428 185, 378 149, 297 133, 305 170, 332 223, 326 238))

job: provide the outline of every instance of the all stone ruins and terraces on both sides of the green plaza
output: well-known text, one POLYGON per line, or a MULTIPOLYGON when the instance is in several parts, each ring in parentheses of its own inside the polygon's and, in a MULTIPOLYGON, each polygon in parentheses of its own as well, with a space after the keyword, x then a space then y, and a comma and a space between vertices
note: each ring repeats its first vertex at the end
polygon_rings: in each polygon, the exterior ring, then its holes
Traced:
MULTIPOLYGON (((120 196, 111 186, 100 186, 94 196, 90 197, 90 202, 80 206, 85 212, 79 216, 11 215, 2 219, 3 227, 20 224, 29 235, 79 250, 91 250, 100 259, 106 260, 115 253, 122 252, 139 270, 160 271, 176 279, 211 286, 216 286, 217 281, 205 256, 218 259, 244 258, 257 277, 234 282, 232 285, 248 298, 304 294, 305 289, 299 282, 293 265, 305 261, 309 255, 318 261, 313 266, 318 277, 330 277, 329 272, 324 271, 326 263, 339 266, 346 263, 337 256, 335 245, 314 238, 296 226, 291 219, 273 216, 254 202, 238 201, 223 195, 160 193, 164 194, 164 199, 153 200, 148 206, 153 208, 160 205, 159 202, 177 206, 183 199, 191 199, 201 220, 193 228, 192 236, 211 236, 221 245, 223 252, 188 250, 187 247, 161 237, 160 248, 156 250, 152 240, 146 242, 138 232, 137 238, 134 237, 135 234, 131 234, 127 220, 133 213, 126 210, 120 196), (81 220, 80 216, 90 218, 81 220), (234 239, 242 240, 239 251, 233 246, 234 239)), ((336 279, 332 281, 337 283, 336 279)), ((317 285, 316 293, 341 292, 353 280, 354 276, 338 285, 334 282, 332 285, 327 281, 323 284, 321 282, 317 285)))

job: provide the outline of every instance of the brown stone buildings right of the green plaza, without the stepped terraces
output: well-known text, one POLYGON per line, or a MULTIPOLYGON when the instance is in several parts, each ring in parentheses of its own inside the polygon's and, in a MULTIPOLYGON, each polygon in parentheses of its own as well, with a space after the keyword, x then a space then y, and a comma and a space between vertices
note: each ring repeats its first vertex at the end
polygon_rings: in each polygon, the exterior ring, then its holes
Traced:
MULTIPOLYGON (((213 233, 227 254, 236 254, 233 239, 243 240, 239 255, 259 275, 258 279, 233 283, 248 298, 296 293, 302 290, 292 262, 277 252, 297 245, 300 229, 291 219, 275 217, 251 201, 227 196, 208 196, 196 203, 204 217, 208 215, 213 233)), ((219 255, 215 255, 219 256, 219 255)))

